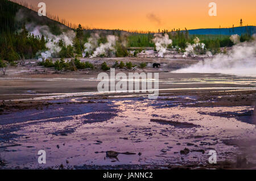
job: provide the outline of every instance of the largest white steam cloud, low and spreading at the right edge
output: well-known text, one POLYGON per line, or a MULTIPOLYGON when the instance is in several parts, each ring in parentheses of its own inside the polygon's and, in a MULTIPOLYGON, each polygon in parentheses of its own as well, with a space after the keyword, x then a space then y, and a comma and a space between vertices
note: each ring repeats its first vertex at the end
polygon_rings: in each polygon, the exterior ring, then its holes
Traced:
POLYGON ((217 54, 213 58, 207 58, 189 68, 174 72, 256 76, 256 40, 238 43, 227 54, 217 54))

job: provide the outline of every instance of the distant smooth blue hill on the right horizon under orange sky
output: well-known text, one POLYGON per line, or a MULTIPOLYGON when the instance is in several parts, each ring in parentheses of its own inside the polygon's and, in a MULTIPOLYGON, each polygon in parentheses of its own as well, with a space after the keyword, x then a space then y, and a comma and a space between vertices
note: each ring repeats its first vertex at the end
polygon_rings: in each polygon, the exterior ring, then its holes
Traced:
POLYGON ((244 26, 244 27, 234 27, 234 28, 205 28, 197 30, 188 30, 190 35, 242 35, 244 33, 249 33, 253 35, 256 33, 255 26, 244 26))

